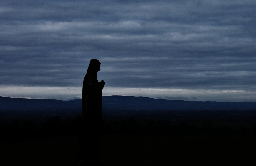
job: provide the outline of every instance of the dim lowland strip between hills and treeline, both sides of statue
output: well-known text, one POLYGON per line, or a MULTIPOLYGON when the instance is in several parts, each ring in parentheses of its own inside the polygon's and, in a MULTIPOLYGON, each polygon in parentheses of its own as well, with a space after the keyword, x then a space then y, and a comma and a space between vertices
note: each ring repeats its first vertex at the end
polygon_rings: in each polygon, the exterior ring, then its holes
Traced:
MULTIPOLYGON (((46 120, 59 116, 63 120, 77 118, 81 114, 80 110, 55 110, 55 111, 29 111, 29 110, 9 110, 0 111, 0 121, 12 123, 14 119, 20 121, 31 120, 34 124, 43 125, 46 120)), ((102 111, 103 120, 123 121, 129 117, 140 119, 140 121, 256 121, 256 110, 108 110, 102 111)))

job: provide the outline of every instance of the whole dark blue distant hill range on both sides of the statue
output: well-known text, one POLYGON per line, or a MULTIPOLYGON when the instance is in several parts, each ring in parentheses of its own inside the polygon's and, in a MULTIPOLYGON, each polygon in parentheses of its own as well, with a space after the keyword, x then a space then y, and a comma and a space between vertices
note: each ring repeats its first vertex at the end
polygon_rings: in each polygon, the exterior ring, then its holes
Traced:
MULTIPOLYGON (((20 99, 0 97, 0 111, 7 110, 81 110, 82 99, 20 99)), ((202 102, 152 99, 134 96, 104 96, 104 110, 256 110, 256 102, 202 102)))

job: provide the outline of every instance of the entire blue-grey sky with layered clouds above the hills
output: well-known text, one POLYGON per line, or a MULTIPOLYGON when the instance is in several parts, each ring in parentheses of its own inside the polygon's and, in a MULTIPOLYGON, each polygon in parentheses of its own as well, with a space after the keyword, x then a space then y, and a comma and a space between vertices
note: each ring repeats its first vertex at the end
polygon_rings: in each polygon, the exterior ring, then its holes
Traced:
POLYGON ((3 0, 0 96, 256 102, 255 0, 3 0))

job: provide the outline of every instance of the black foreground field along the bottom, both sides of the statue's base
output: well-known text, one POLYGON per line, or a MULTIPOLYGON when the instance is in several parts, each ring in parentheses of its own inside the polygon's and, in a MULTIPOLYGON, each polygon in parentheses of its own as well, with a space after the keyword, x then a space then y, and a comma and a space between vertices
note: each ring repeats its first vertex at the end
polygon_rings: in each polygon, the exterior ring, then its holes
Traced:
MULTIPOLYGON (((74 166, 77 136, 4 142, 1 166, 74 166)), ((103 166, 255 165, 256 136, 103 135, 103 166)))

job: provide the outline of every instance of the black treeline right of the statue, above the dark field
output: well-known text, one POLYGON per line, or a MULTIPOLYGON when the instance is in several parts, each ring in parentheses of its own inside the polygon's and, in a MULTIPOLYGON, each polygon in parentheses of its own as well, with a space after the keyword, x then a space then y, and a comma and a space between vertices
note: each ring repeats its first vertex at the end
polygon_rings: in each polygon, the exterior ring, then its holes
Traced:
POLYGON ((103 125, 106 134, 171 134, 171 135, 256 135, 256 123, 244 122, 174 122, 141 123, 133 117, 103 125))

